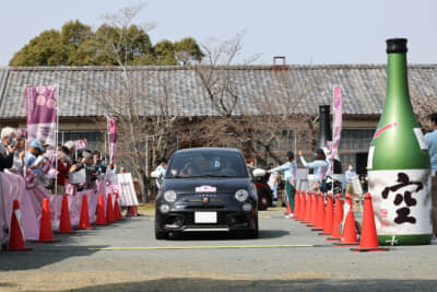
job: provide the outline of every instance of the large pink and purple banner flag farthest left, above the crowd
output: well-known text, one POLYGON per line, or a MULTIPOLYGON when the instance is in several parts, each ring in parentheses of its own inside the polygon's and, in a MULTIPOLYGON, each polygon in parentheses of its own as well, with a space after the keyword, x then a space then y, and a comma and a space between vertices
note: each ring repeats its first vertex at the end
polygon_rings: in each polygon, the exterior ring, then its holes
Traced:
POLYGON ((56 147, 56 94, 55 85, 27 86, 25 91, 27 140, 47 143, 49 153, 56 147))

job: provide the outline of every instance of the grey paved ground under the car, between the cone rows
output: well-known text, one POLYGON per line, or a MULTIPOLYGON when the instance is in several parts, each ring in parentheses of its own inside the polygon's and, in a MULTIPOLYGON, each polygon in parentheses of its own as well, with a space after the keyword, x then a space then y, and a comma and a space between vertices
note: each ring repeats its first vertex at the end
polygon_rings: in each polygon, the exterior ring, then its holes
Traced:
POLYGON ((260 212, 260 238, 223 234, 156 241, 153 217, 56 235, 0 254, 1 291, 290 291, 437 289, 437 245, 355 254, 260 212))

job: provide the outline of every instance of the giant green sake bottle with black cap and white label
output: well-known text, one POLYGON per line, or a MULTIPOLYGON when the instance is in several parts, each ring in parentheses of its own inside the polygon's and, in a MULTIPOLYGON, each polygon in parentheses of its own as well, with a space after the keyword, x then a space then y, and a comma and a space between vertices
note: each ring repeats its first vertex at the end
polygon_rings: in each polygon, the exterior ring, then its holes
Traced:
POLYGON ((387 39, 387 98, 367 161, 380 245, 429 244, 430 162, 410 101, 406 39, 387 39))

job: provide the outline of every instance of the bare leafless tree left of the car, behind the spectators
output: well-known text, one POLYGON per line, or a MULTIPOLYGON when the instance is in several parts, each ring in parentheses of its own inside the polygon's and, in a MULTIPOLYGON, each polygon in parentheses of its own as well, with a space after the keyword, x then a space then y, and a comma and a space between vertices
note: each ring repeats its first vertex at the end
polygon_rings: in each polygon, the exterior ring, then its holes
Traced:
MULTIPOLYGON (((87 80, 87 90, 97 98, 106 116, 117 118, 117 160, 129 165, 139 178, 142 199, 147 202, 151 199, 149 173, 158 157, 167 156, 176 149, 179 119, 169 106, 172 93, 166 81, 156 71, 128 66, 127 55, 132 39, 132 35, 128 37, 129 27, 143 7, 140 3, 105 16, 111 27, 118 28, 118 37, 109 35, 111 31, 107 32, 107 36, 101 36, 104 44, 99 48, 101 54, 116 60, 118 67, 107 70, 113 73, 113 82, 93 80, 91 83, 87 80)), ((83 83, 84 80, 78 82, 83 83)))

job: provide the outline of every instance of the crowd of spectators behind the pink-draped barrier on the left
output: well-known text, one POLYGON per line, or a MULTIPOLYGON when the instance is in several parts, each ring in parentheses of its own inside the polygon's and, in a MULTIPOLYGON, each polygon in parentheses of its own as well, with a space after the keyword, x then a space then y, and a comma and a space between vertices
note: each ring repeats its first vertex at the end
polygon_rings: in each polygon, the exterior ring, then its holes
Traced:
POLYGON ((69 184, 78 191, 94 188, 101 176, 111 179, 117 172, 108 155, 76 150, 74 141, 55 150, 45 141, 26 141, 26 131, 11 127, 1 129, 0 137, 0 172, 22 175, 27 186, 42 185, 52 194, 66 194, 69 184))

